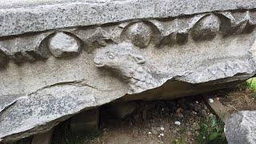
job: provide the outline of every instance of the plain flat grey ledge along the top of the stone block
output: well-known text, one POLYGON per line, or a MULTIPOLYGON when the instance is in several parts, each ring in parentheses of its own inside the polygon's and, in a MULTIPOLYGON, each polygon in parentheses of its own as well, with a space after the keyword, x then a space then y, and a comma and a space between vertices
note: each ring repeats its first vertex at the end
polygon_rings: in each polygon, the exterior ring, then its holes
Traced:
POLYGON ((138 18, 169 18, 255 7, 254 0, 4 0, 0 2, 0 37, 138 18))

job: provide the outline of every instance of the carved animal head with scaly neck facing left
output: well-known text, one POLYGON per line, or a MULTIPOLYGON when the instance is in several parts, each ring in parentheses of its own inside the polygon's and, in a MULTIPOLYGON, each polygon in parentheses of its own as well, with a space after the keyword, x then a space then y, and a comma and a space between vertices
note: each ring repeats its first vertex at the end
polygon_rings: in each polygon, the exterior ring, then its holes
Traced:
POLYGON ((158 86, 158 80, 152 77, 144 65, 146 59, 130 43, 106 46, 96 51, 94 63, 97 67, 114 71, 128 83, 128 94, 149 90, 158 86))

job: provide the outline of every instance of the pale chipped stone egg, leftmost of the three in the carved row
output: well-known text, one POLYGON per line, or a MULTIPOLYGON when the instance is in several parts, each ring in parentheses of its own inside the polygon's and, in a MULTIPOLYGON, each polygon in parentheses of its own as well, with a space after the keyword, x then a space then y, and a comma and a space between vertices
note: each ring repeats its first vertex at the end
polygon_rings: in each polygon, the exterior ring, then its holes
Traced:
POLYGON ((54 57, 60 58, 77 55, 80 51, 80 44, 78 40, 72 38, 70 35, 59 32, 50 38, 49 49, 54 57))

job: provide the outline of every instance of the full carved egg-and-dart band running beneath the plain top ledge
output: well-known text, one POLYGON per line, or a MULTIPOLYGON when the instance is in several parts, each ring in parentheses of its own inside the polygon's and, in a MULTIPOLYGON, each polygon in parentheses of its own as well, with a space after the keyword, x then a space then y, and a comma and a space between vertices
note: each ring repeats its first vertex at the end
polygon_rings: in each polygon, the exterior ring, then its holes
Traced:
POLYGON ((93 53, 97 48, 120 42, 130 42, 140 48, 150 43, 156 47, 183 45, 190 34, 194 41, 203 41, 218 33, 224 36, 250 33, 255 26, 256 12, 242 10, 77 27, 57 34, 55 31, 28 34, 0 40, 1 65, 6 66, 9 59, 20 64, 47 59, 51 54, 61 58, 78 55, 81 50, 93 53))

